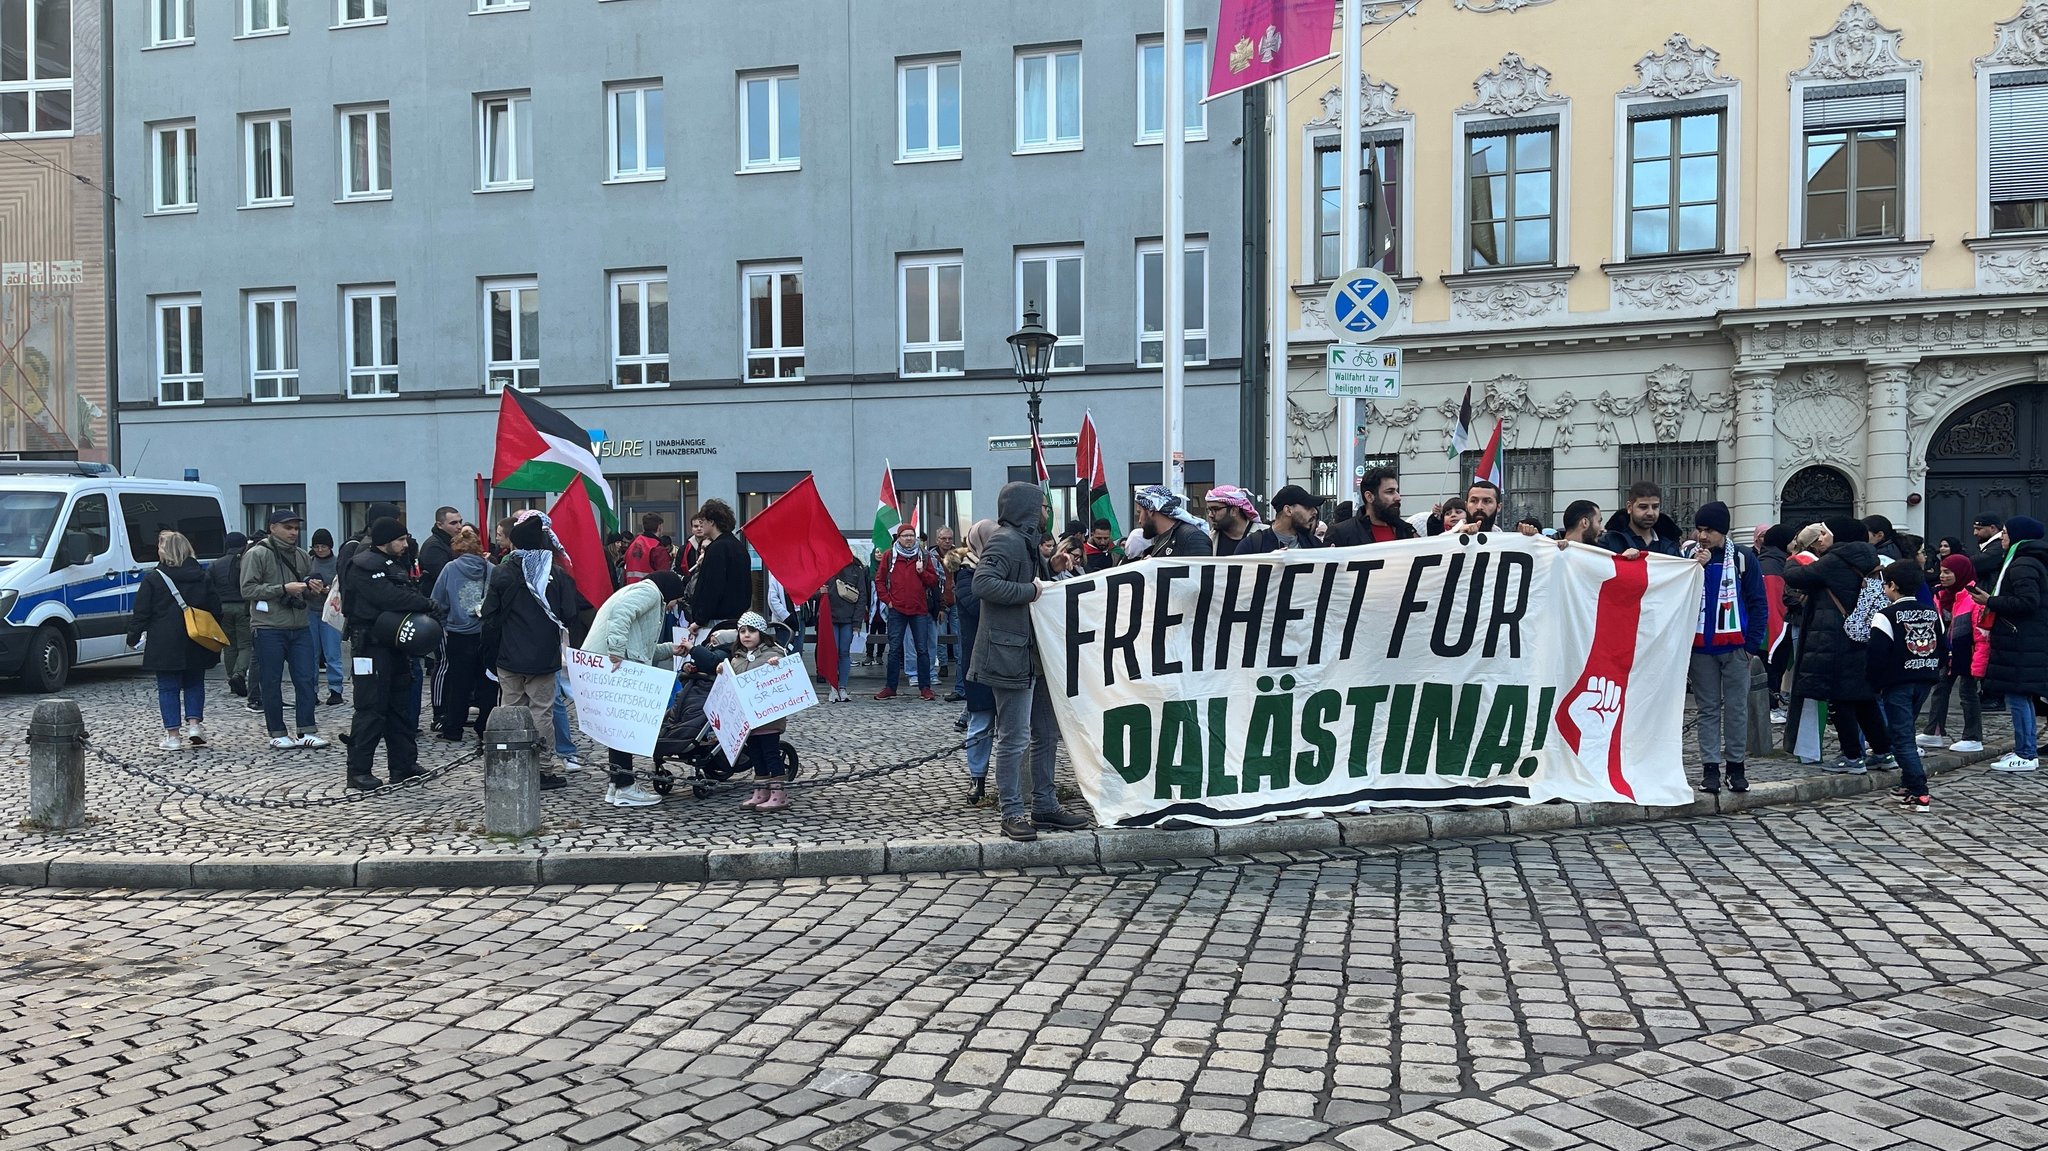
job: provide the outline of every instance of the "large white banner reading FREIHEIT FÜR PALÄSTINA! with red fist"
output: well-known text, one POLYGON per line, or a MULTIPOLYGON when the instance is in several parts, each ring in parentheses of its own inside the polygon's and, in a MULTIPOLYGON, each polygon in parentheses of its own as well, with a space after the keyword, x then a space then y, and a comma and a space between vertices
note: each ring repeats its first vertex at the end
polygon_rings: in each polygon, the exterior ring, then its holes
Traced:
POLYGON ((1513 532, 1143 561, 1032 604, 1104 823, 1692 803, 1700 565, 1513 532))

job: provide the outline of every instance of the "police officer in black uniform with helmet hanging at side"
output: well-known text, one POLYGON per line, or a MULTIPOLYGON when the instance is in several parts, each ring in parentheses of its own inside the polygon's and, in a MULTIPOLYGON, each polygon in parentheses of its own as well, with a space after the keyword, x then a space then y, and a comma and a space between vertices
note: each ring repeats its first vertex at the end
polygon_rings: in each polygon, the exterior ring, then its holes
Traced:
POLYGON ((412 567, 399 559, 408 549, 406 524, 381 518, 371 524, 369 547, 348 559, 348 653, 356 662, 356 715, 348 727, 348 786, 369 791, 381 786, 373 766, 377 741, 391 760, 391 782, 420 774, 418 731, 406 711, 406 694, 420 696, 412 680, 412 655, 395 647, 389 629, 379 629, 387 612, 424 612, 438 616, 430 600, 412 582, 412 567), (369 659, 369 672, 362 672, 369 659))

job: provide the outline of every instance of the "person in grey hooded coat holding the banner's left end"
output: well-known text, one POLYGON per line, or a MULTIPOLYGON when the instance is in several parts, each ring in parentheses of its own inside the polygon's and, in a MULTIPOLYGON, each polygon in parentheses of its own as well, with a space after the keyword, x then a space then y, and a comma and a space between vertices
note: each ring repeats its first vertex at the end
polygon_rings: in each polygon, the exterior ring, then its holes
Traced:
POLYGON ((1004 483, 995 496, 995 535, 975 569, 981 627, 975 633, 975 662, 967 672, 971 682, 995 692, 995 795, 1001 801, 1004 836, 1024 842, 1036 840, 1038 827, 1087 827, 1087 819, 1067 813, 1053 791, 1059 721, 1038 672, 1038 645, 1030 629, 1030 604, 1053 580, 1038 553, 1044 532, 1040 514, 1036 483, 1004 483), (1032 774, 1028 807, 1022 780, 1026 745, 1032 774))

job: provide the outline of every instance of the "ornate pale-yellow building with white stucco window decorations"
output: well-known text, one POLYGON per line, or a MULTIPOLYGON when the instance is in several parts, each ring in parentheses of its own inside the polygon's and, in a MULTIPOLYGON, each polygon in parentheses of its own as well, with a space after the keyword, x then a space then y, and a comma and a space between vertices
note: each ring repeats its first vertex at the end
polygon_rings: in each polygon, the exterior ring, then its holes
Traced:
POLYGON ((1378 262, 1407 369, 1360 453, 1411 506, 1470 473, 1446 459, 1470 381, 1516 516, 1634 479, 1739 522, 2048 510, 2048 0, 1362 14, 1366 256, 1337 244, 1337 66, 1290 88, 1294 481, 1354 492, 1321 297, 1378 262))

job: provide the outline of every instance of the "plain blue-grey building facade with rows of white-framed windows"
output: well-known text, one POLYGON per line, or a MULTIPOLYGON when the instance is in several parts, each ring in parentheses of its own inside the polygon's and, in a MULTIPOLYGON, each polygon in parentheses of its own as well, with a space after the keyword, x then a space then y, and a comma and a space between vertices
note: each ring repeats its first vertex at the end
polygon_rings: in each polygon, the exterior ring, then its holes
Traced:
MULTIPOLYGON (((1004 340, 1042 291, 1077 344, 1047 434, 1092 410, 1112 487, 1157 479, 1157 4, 285 8, 115 6, 123 469, 197 469, 252 524, 399 498, 424 532, 475 514, 510 381, 678 535, 805 473, 864 535, 885 459, 965 522, 1028 469, 989 440, 1028 432, 1004 340)), ((1237 479, 1243 115, 1194 115, 1200 494, 1237 479)))

